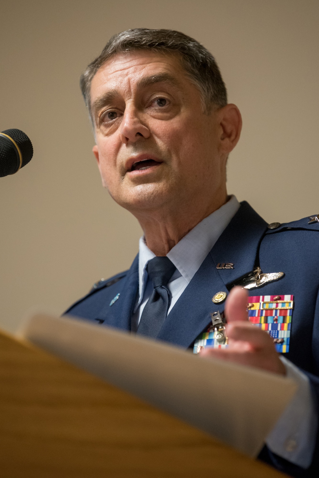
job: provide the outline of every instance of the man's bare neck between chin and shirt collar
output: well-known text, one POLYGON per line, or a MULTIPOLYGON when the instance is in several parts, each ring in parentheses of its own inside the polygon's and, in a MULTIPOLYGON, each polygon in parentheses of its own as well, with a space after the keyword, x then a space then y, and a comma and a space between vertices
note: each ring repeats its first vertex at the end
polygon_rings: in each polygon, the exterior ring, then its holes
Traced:
POLYGON ((156 256, 166 256, 167 253, 184 237, 192 228, 205 217, 219 209, 228 200, 227 193, 211 201, 206 207, 185 207, 181 210, 174 208, 161 208, 160 211, 148 211, 136 214, 141 228, 144 231, 148 248, 156 256))

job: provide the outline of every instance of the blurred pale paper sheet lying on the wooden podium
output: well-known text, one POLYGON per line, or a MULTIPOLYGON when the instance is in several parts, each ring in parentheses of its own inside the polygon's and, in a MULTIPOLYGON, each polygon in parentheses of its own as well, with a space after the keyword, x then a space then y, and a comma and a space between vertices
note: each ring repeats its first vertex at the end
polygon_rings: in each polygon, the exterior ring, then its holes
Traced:
POLYGON ((54 355, 257 456, 297 386, 285 377, 198 355, 82 319, 37 314, 17 333, 54 355))

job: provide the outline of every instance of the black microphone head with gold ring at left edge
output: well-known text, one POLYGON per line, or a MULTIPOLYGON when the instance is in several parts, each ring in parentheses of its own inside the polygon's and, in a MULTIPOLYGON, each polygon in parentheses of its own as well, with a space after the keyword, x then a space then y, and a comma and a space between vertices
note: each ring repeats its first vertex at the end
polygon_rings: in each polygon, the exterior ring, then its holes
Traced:
POLYGON ((31 161, 32 142, 21 130, 0 132, 0 177, 14 174, 31 161))

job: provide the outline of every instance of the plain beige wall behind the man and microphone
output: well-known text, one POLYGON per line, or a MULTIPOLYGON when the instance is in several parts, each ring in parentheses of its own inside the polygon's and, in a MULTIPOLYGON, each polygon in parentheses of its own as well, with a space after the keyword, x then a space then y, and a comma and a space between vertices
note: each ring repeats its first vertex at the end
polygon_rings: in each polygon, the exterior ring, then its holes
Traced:
MULTIPOLYGON (((319 2, 1 0, 0 130, 34 156, 0 178, 0 326, 61 314, 101 277, 127 269, 141 229, 103 190, 78 87, 108 38, 172 28, 213 52, 241 109, 228 191, 268 221, 319 212, 319 2)), ((291 259, 293 260, 293 258, 291 259)), ((311 260, 311 258, 310 258, 311 260)))

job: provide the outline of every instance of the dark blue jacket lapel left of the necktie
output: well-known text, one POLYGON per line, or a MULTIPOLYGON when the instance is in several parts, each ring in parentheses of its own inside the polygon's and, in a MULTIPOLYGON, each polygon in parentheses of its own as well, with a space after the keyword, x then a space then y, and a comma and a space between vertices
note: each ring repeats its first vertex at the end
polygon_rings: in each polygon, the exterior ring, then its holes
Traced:
POLYGON ((103 320, 103 325, 117 327, 123 330, 131 329, 131 315, 138 292, 138 255, 134 259, 128 274, 119 282, 117 293, 118 300, 113 305, 109 303, 100 311, 98 320, 103 320))

